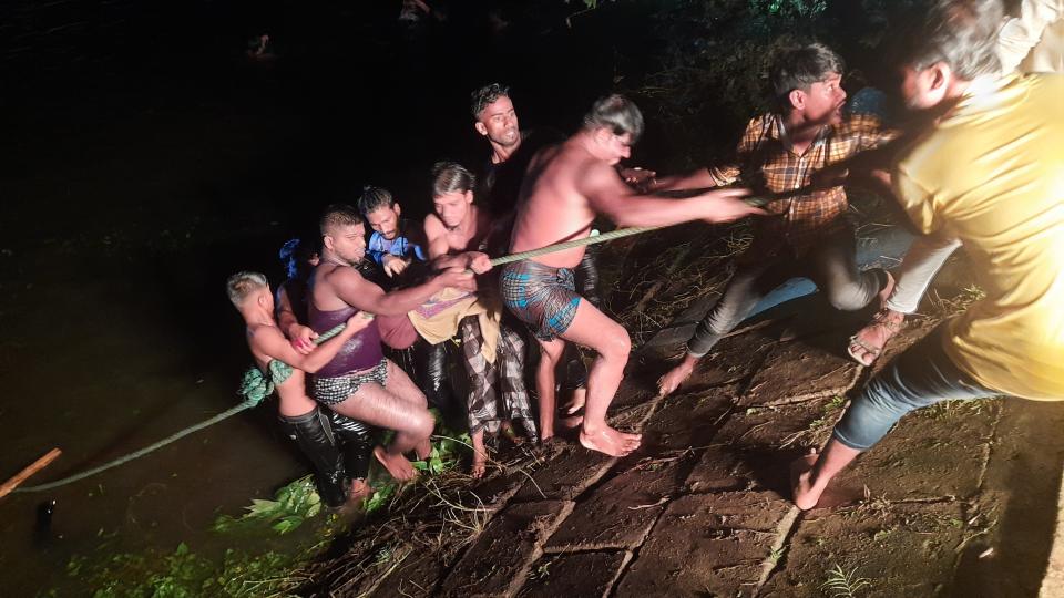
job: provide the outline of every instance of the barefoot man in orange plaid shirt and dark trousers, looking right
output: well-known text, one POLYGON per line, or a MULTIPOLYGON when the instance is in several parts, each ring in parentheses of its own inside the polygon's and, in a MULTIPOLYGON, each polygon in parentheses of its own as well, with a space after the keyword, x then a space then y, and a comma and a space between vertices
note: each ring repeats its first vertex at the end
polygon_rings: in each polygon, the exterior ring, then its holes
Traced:
POLYGON ((786 50, 770 73, 780 112, 750 121, 734 159, 686 176, 651 179, 652 190, 744 186, 774 198, 774 216, 755 221, 754 243, 739 258, 724 296, 687 342, 682 363, 658 381, 676 390, 714 344, 773 289, 790 278, 814 280, 837 309, 857 310, 890 292, 886 270, 860 272, 841 186, 814 188, 814 175, 893 138, 871 115, 843 118, 842 60, 814 43, 786 50))

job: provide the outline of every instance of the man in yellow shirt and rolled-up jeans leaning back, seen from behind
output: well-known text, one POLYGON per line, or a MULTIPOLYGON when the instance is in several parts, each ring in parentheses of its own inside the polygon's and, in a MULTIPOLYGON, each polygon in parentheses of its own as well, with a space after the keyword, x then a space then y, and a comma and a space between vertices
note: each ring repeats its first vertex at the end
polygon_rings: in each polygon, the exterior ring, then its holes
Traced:
POLYGON ((795 463, 799 508, 909 411, 1064 399, 1064 75, 994 74, 1001 16, 1000 0, 933 0, 899 56, 907 104, 937 118, 896 165, 896 194, 920 231, 960 239, 985 297, 873 378, 823 452, 795 463))

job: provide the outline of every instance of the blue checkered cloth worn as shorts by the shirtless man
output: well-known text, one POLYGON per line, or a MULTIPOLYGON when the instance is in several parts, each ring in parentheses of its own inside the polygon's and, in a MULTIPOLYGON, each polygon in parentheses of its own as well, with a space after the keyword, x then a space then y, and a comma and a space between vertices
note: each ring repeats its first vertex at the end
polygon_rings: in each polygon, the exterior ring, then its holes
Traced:
POLYGON ((580 296, 569 268, 518 261, 502 269, 500 287, 503 303, 540 340, 564 333, 576 317, 580 296))

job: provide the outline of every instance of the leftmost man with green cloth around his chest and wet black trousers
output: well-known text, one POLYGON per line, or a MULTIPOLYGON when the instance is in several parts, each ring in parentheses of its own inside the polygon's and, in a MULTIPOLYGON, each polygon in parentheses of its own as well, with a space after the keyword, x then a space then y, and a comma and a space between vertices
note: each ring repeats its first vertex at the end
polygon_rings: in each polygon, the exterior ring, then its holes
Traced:
MULTIPOLYGON (((342 457, 325 432, 318 405, 307 396, 303 372, 314 373, 336 357, 344 343, 369 326, 371 317, 352 312, 347 328, 335 338, 306 353, 297 351, 280 332, 274 320, 274 297, 266 277, 258 272, 237 272, 226 283, 229 300, 247 323, 247 344, 259 371, 276 384, 280 404, 277 411, 290 435, 315 466, 315 480, 323 502, 340 506, 348 498, 344 486, 342 457), (277 379, 270 362, 291 365, 291 373, 277 379)), ((365 483, 351 481, 350 497, 365 496, 365 483)))

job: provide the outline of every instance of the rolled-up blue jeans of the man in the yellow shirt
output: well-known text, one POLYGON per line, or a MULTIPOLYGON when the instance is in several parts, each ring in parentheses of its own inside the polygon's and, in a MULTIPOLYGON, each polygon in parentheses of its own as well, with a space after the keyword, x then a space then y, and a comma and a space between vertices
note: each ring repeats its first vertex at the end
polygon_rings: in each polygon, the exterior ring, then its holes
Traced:
POLYGON ((868 451, 914 409, 940 401, 1000 395, 956 369, 942 351, 942 333, 943 326, 939 326, 869 381, 836 424, 835 440, 868 451))

